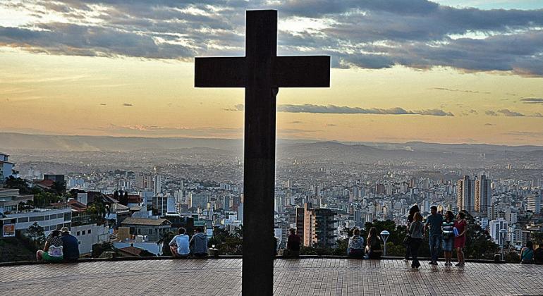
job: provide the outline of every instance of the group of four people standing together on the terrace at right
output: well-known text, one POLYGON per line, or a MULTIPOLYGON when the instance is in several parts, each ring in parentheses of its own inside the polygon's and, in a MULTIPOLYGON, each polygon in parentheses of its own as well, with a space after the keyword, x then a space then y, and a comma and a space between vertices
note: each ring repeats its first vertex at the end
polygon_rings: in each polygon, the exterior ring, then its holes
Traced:
POLYGON ((437 213, 437 206, 430 208, 430 215, 426 218, 426 223, 422 222, 422 215, 419 207, 415 204, 409 210, 408 216, 408 235, 404 242, 406 245, 405 259, 412 259, 411 267, 418 269, 420 262, 418 260, 418 252, 422 243, 422 238, 429 230, 429 249, 430 249, 430 265, 437 265, 437 258, 441 249, 444 251, 445 266, 452 266, 451 258, 453 257, 453 248, 456 249, 456 257, 458 264, 456 266, 464 266, 465 235, 468 230, 467 222, 465 221, 465 213, 460 211, 456 218, 453 212, 446 211, 445 216, 437 213))

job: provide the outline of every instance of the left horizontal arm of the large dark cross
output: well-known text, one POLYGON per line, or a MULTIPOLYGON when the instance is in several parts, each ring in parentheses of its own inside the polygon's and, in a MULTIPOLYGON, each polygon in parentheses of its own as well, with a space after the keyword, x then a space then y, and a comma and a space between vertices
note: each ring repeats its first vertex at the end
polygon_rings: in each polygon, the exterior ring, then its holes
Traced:
POLYGON ((195 58, 195 87, 245 87, 245 57, 195 58))

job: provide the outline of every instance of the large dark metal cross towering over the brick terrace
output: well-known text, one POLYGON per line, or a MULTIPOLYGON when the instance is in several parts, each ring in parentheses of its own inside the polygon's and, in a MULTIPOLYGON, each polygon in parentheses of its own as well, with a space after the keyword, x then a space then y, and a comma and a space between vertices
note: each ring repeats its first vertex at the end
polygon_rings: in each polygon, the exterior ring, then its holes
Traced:
POLYGON ((244 57, 195 58, 195 87, 245 87, 243 295, 274 280, 276 94, 329 87, 329 56, 276 56, 277 11, 247 11, 244 57))

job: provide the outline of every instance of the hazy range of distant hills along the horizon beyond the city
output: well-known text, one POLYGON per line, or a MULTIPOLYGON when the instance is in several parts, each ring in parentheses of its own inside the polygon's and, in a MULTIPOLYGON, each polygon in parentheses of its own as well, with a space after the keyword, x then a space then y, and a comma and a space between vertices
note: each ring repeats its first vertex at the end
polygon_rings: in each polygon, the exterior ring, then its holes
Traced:
MULTIPOLYGON (((19 150, 58 152, 135 152, 169 150, 170 153, 241 155, 241 139, 204 139, 182 137, 106 137, 78 135, 27 135, 0 132, 0 152, 19 150)), ((436 161, 461 164, 470 161, 504 159, 541 159, 543 147, 492 144, 439 144, 426 142, 318 142, 313 140, 277 140, 281 159, 329 159, 345 162, 436 161)))

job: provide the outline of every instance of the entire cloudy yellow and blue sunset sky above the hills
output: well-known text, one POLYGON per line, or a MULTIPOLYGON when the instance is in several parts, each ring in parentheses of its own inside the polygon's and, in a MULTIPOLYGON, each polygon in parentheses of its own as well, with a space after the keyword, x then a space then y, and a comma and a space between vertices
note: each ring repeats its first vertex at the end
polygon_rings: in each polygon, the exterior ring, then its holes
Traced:
POLYGON ((331 87, 279 90, 278 137, 543 145, 543 1, 0 1, 0 131, 243 135, 243 89, 194 56, 243 56, 245 10, 278 54, 331 56, 331 87))

